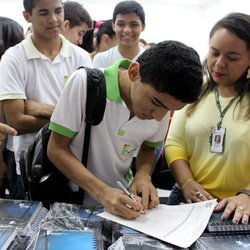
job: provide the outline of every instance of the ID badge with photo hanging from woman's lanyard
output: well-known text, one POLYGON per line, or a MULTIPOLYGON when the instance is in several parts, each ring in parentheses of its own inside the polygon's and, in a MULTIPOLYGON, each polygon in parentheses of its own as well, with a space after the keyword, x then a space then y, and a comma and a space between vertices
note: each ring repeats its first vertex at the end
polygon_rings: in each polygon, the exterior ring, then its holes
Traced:
POLYGON ((225 128, 212 128, 210 136, 210 152, 222 153, 225 144, 225 128))

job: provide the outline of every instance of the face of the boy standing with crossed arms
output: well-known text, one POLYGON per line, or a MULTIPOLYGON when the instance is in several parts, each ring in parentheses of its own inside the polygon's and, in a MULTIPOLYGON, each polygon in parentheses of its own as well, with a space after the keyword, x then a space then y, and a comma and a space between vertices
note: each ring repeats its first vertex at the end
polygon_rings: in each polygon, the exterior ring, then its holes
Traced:
POLYGON ((32 24, 35 36, 42 39, 54 39, 60 34, 64 12, 61 0, 38 0, 32 15, 24 11, 26 21, 32 24))

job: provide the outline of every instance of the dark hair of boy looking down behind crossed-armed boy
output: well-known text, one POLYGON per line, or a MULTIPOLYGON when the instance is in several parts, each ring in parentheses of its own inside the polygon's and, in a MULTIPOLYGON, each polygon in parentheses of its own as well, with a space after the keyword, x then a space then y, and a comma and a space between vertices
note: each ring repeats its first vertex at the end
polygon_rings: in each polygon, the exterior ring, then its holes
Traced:
POLYGON ((63 3, 64 20, 68 20, 70 27, 79 26, 86 23, 88 28, 92 28, 92 18, 88 11, 78 2, 67 1, 63 3))

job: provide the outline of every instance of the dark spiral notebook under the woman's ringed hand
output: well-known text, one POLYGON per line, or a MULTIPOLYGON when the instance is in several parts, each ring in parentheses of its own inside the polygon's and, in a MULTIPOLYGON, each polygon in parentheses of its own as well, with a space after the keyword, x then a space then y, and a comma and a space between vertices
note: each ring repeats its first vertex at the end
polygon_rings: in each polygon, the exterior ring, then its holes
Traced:
POLYGON ((213 234, 228 234, 230 232, 237 234, 250 234, 250 224, 233 224, 232 217, 226 221, 221 221, 222 212, 213 213, 207 225, 207 230, 213 234))

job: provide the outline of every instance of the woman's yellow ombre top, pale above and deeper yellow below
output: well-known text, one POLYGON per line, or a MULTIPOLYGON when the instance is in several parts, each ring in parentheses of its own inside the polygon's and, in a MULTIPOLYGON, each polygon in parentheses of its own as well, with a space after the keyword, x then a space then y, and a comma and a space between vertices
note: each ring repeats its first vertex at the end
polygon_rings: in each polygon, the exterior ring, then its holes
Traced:
MULTIPOLYGON (((221 110, 231 99, 219 98, 221 110)), ((168 166, 178 159, 188 161, 193 178, 218 199, 234 196, 250 183, 250 120, 243 117, 248 102, 245 97, 240 109, 240 104, 235 107, 237 101, 222 120, 226 129, 222 153, 210 152, 211 129, 220 117, 214 92, 200 101, 191 116, 186 115, 187 106, 175 111, 166 141, 168 166)))

